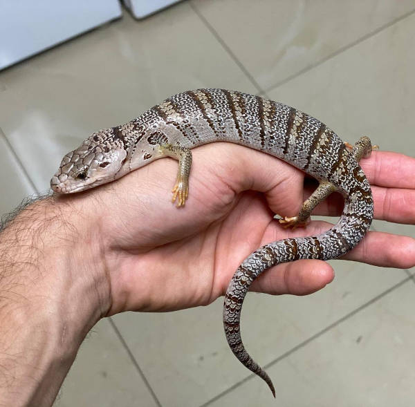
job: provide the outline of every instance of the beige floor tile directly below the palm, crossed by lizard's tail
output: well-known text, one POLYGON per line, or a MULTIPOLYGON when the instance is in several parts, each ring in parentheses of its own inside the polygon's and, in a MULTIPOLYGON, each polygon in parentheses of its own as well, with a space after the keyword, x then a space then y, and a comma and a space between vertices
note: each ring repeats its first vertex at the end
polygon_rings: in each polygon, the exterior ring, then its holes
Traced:
MULTIPOLYGON (((242 335, 259 363, 274 360, 407 276, 345 261, 334 261, 333 267, 335 281, 311 296, 248 295, 242 335)), ((248 375, 225 341, 222 301, 168 314, 117 316, 163 406, 201 405, 248 375)))

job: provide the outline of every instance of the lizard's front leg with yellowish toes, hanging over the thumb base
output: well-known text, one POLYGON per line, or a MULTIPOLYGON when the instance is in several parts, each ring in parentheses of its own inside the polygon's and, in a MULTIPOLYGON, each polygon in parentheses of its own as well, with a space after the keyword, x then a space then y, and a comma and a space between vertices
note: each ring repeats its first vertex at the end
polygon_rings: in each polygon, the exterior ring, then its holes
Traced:
POLYGON ((172 202, 176 202, 177 200, 176 206, 183 207, 189 196, 189 174, 190 167, 192 167, 192 152, 190 149, 172 144, 159 144, 158 149, 162 155, 178 160, 176 183, 172 189, 172 202))

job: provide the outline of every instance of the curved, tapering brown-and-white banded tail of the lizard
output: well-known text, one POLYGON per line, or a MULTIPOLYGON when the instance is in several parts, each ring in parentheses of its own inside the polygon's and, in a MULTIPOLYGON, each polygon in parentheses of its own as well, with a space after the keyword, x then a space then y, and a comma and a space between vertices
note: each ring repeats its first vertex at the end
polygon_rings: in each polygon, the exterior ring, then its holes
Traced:
POLYGON ((279 263, 316 258, 329 260, 349 252, 365 236, 373 217, 373 200, 369 182, 349 191, 338 223, 319 236, 288 238, 260 247, 238 267, 228 286, 223 304, 223 325, 234 355, 249 370, 266 381, 275 397, 273 382, 267 373, 246 352, 239 323, 243 299, 252 281, 262 272, 279 263))

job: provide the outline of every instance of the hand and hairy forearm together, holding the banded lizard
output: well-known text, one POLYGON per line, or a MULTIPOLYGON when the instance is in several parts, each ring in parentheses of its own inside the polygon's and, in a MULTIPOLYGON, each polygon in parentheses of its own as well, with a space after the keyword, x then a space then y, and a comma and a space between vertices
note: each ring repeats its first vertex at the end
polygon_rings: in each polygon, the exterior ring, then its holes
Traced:
MULTIPOLYGON (((184 209, 169 202, 177 163, 163 159, 84 193, 39 200, 0 233, 1 404, 50 406, 102 316, 207 305, 257 247, 330 227, 313 221, 288 231, 273 219, 295 215, 311 193, 303 173, 281 160, 226 143, 193 152, 184 209)), ((362 167, 375 217, 414 224, 414 158, 374 152, 362 167)), ((315 213, 341 210, 333 195, 315 213)), ((345 258, 409 268, 415 239, 369 232, 345 258)), ((332 278, 324 261, 295 261, 269 269, 252 290, 308 294, 332 278)))

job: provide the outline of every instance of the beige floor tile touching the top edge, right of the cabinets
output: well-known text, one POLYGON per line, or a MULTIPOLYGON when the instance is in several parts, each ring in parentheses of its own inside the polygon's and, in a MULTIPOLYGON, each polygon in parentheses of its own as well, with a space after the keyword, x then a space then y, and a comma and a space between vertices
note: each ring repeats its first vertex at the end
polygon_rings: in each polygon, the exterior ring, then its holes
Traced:
POLYGON ((193 4, 265 90, 414 10, 411 0, 193 4))

